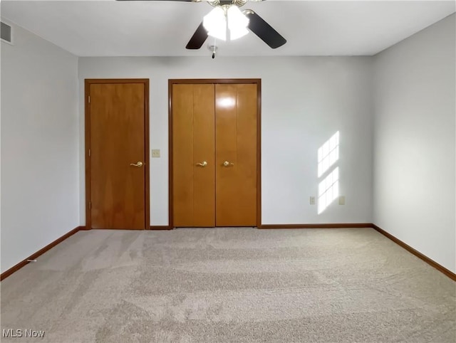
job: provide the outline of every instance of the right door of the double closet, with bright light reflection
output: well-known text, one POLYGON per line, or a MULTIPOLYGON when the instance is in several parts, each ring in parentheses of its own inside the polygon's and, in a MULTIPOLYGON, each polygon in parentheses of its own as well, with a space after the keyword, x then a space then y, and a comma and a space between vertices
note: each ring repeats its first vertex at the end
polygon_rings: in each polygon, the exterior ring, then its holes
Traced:
POLYGON ((217 226, 257 226, 257 106, 257 84, 215 86, 217 226))

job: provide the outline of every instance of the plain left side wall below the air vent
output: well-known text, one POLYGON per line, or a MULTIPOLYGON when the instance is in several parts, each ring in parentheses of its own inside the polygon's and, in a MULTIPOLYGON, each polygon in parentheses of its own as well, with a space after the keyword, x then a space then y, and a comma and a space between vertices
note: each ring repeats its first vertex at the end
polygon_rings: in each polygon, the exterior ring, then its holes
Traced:
POLYGON ((1 272, 79 226, 78 59, 14 26, 1 43, 1 272))

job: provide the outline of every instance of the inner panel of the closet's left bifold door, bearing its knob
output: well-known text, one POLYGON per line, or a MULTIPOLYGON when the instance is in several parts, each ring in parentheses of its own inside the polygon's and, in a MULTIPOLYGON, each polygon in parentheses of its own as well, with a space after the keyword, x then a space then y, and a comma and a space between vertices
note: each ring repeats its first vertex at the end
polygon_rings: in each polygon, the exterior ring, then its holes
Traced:
POLYGON ((214 85, 193 86, 193 226, 215 226, 214 85), (198 163, 206 162, 205 167, 198 163))

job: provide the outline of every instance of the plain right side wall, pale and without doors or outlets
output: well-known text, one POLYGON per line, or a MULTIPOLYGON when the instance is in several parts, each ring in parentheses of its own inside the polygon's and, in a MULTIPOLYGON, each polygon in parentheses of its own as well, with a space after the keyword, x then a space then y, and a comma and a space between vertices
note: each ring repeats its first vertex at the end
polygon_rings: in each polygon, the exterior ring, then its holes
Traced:
POLYGON ((375 56, 374 223, 456 272, 455 14, 375 56))

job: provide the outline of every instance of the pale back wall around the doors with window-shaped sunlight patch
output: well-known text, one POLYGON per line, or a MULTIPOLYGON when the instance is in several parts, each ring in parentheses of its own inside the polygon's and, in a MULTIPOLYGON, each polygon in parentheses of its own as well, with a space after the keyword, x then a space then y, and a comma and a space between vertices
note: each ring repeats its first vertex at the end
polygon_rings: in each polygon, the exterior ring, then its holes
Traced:
POLYGON ((262 223, 372 221, 371 58, 79 58, 81 223, 85 78, 150 78, 151 225, 168 223, 170 78, 261 78, 262 223), (318 215, 317 150, 338 130, 346 205, 318 215))

